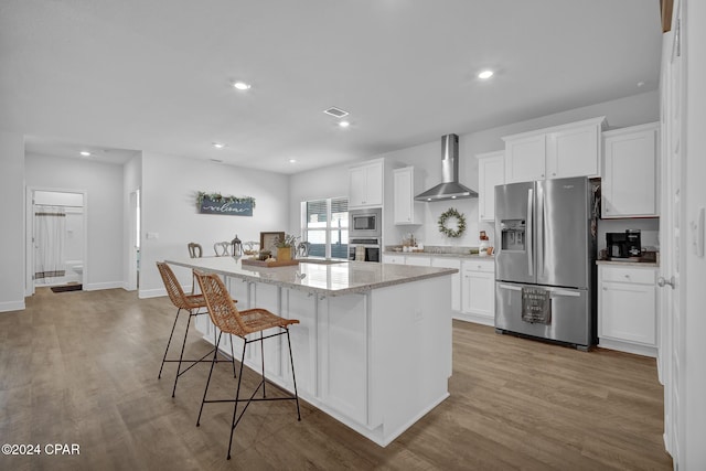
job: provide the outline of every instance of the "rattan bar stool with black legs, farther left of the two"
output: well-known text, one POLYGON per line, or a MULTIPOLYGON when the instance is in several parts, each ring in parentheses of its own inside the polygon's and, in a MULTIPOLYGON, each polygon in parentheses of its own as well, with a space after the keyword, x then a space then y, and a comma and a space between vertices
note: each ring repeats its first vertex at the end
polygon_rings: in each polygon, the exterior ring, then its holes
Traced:
MULTIPOLYGON (((207 313, 206 311, 206 300, 203 295, 185 295, 184 290, 181 288, 179 280, 174 276, 174 272, 163 261, 157 263, 157 268, 159 269, 159 274, 162 276, 162 281, 164 282, 164 288, 167 288, 167 293, 169 295, 169 299, 172 301, 172 304, 176 307, 176 315, 174 317, 174 324, 172 325, 172 331, 169 334, 169 341, 167 342, 167 349, 164 349, 164 356, 162 357, 162 365, 159 368, 158 379, 162 377, 162 370, 164 368, 164 363, 179 363, 176 366, 176 376, 174 377, 174 387, 172 388, 172 397, 174 397, 176 393, 176 382, 179 381, 179 376, 186 373, 197 363, 212 362, 212 360, 206 360, 211 354, 214 354, 213 361, 218 361, 216 358, 218 349, 217 346, 214 350, 210 351, 205 355, 203 355, 199 360, 184 360, 184 349, 186 346, 186 336, 189 336, 189 327, 191 325, 191 319, 196 315, 204 315, 207 313), (174 329, 176 328, 176 321, 179 320, 179 314, 182 310, 189 311, 189 320, 186 321, 186 330, 184 331, 184 340, 181 344, 181 353, 179 355, 179 360, 167 358, 167 353, 169 352, 169 345, 172 343, 172 336, 174 336, 174 329), (182 363, 191 363, 186 368, 182 370, 182 363)), ((215 335, 214 335, 215 336, 215 335)), ((217 345, 217 344, 216 344, 217 345)), ((222 362, 233 363, 233 375, 235 375, 235 354, 233 352, 233 345, 231 345, 231 360, 221 360, 222 362)))

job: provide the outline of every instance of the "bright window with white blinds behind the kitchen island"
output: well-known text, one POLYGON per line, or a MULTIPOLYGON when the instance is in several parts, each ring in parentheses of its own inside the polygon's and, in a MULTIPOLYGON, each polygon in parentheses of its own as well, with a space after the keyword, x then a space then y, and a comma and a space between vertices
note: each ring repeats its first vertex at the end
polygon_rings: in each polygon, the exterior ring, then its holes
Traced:
POLYGON ((330 197, 302 205, 302 233, 312 257, 349 257, 349 200, 330 197))

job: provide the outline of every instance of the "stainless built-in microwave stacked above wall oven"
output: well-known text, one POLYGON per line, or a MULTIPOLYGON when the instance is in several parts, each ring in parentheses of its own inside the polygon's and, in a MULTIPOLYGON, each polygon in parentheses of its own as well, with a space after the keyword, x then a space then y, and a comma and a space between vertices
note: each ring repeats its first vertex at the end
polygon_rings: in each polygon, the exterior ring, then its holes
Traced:
POLYGON ((381 261, 383 210, 349 211, 349 260, 381 261))

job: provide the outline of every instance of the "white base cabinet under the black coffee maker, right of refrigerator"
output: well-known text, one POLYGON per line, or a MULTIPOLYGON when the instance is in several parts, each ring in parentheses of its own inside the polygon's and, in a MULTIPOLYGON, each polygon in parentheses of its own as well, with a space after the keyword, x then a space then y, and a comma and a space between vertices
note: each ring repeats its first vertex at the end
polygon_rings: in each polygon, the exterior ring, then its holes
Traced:
POLYGON ((598 267, 598 344, 656 356, 656 268, 598 267))

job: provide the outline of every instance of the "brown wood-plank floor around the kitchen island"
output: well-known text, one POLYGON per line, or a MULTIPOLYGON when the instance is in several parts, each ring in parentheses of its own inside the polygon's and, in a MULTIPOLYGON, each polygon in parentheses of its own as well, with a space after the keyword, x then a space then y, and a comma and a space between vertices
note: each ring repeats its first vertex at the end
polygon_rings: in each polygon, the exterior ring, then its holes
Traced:
MULTIPOLYGON (((672 469, 653 358, 460 321, 451 397, 388 447, 306 403, 300 422, 292 403, 258 403, 226 461, 232 405, 206 405, 195 427, 208 366, 183 375, 175 398, 175 364, 157 379, 174 311, 167 298, 124 290, 40 289, 25 311, 0 313, 0 441, 42 451, 0 456, 0 469, 672 469), (47 443, 77 443, 81 454, 49 456, 47 443)), ((190 334, 192 355, 208 350, 190 334)), ((229 397, 234 386, 231 365, 217 365, 210 395, 229 397)))

